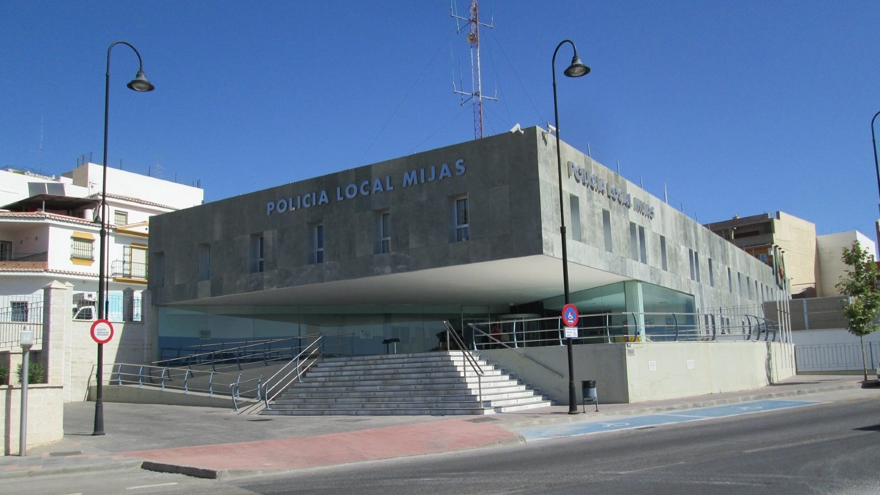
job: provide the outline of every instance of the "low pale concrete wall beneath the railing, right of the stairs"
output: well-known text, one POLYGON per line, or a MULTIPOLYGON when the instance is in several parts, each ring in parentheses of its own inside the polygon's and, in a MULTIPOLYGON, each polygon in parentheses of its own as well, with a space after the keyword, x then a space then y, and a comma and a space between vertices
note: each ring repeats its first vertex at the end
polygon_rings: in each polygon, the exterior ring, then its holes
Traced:
MULTIPOLYGON (((759 389, 795 375, 793 352, 792 346, 756 341, 574 346, 576 400, 583 402, 585 380, 597 382, 600 404, 759 389)), ((492 349, 480 355, 558 404, 568 404, 565 346, 492 349)))

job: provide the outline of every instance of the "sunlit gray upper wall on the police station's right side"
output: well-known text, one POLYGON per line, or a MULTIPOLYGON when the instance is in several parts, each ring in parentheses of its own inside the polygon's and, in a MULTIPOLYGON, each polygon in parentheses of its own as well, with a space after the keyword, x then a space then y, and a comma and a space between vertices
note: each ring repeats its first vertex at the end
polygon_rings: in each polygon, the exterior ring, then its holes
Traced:
MULTIPOLYGON (((539 130, 538 138, 540 195, 541 204, 545 206, 541 216, 544 251, 561 258, 556 144, 554 137, 544 131, 539 130)), ((572 220, 568 198, 565 198, 568 258, 572 262, 692 294, 698 309, 746 306, 763 302, 761 286, 766 299, 775 299, 773 271, 757 258, 565 142, 561 145, 561 160, 563 194, 576 195, 580 205, 582 237, 577 241, 571 238, 572 220), (571 164, 574 164, 575 169, 579 167, 583 170, 584 176, 595 174, 599 181, 604 180, 605 192, 597 191, 586 181, 579 180, 576 173, 571 173, 571 164), (613 187, 618 187, 629 195, 629 206, 613 199, 613 187), (653 208, 653 218, 642 214, 636 207, 635 200, 641 200, 648 208, 653 208), (611 216, 611 252, 605 251, 603 210, 607 210, 611 216), (647 263, 642 263, 641 253, 638 260, 631 256, 630 222, 645 230, 647 263), (660 246, 661 236, 665 237, 666 242, 665 270, 660 246), (691 279, 689 250, 698 255, 699 282, 691 279), (732 275, 732 290, 728 283, 728 268, 732 275), (740 273, 742 287, 739 284, 740 277, 737 276, 740 273), (745 287, 746 277, 751 280, 751 295, 750 289, 745 287), (758 290, 754 285, 755 280, 759 283, 758 290)))

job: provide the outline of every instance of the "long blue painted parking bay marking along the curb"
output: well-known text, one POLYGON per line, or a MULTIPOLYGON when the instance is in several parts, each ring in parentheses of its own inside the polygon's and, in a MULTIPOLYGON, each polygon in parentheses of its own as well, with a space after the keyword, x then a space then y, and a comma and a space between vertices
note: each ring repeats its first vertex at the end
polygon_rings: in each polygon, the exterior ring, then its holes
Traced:
POLYGON ((739 404, 700 407, 697 409, 689 409, 685 411, 677 411, 665 414, 648 414, 645 416, 620 417, 568 425, 539 426, 534 428, 525 428, 523 430, 520 430, 519 434, 524 436, 526 440, 538 440, 562 436, 582 435, 587 433, 611 432, 614 430, 626 430, 632 428, 641 428, 644 426, 668 425, 671 423, 698 421, 700 419, 725 418, 728 416, 737 416, 740 414, 750 414, 752 412, 773 411, 774 409, 785 409, 788 407, 799 407, 802 405, 810 404, 819 403, 816 401, 775 399, 759 400, 739 404))

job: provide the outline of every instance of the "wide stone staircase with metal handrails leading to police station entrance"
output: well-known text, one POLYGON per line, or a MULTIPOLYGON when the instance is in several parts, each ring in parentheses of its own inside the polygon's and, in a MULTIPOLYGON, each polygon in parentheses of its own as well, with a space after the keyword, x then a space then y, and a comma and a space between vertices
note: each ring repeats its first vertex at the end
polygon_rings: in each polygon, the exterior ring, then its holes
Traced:
POLYGON ((326 358, 282 392, 261 414, 492 414, 552 405, 546 397, 475 356, 482 376, 461 351, 326 358))

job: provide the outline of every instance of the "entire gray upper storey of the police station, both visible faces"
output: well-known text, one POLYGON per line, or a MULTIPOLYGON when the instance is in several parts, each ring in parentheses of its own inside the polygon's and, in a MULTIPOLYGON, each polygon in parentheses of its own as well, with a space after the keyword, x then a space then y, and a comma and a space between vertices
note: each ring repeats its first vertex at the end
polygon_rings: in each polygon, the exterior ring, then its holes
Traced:
MULTIPOLYGON (((616 280, 643 280, 693 294, 698 308, 744 306, 762 302, 762 296, 774 298, 766 290, 774 284, 769 266, 580 151, 565 143, 561 151, 569 239, 575 229, 568 195, 576 195, 580 206, 580 239, 568 241, 572 263, 612 273, 616 280), (569 177, 569 162, 588 175, 597 174, 607 190, 599 193, 569 177), (629 195, 629 205, 615 200, 613 187, 619 187, 624 198, 629 195), (645 211, 636 201, 644 202, 645 211), (648 213, 651 208, 653 214, 648 213), (605 251, 603 209, 612 217, 611 252, 605 251), (630 222, 645 230, 644 263, 631 257, 630 222), (666 239, 665 270, 661 236, 666 239), (700 281, 691 280, 689 250, 697 253, 700 281), (747 288, 740 288, 739 274, 743 286, 746 277, 751 281, 747 288)), ((150 262, 150 290, 154 303, 167 304, 497 259, 541 254, 561 258, 559 225, 555 140, 531 127, 523 133, 494 135, 155 216, 150 222, 150 251, 163 262, 155 258, 150 262), (456 175, 458 160, 464 167, 460 175, 456 175), (431 167, 439 171, 443 164, 451 177, 427 181, 431 167), (420 183, 404 187, 403 178, 413 171, 420 183), (377 180, 382 190, 374 192, 377 180), (349 184, 357 189, 366 184, 369 193, 348 199, 344 193, 349 184), (393 190, 388 190, 389 185, 393 190), (292 198, 296 203, 297 196, 312 192, 326 192, 326 203, 278 213, 278 200, 292 198), (469 200, 471 237, 455 243, 451 212, 454 199, 461 195, 469 200), (275 209, 268 212, 273 201, 275 209), (378 215, 385 210, 392 215, 392 252, 375 254, 378 215), (325 261, 313 264, 311 237, 319 222, 324 226, 325 261), (251 273, 253 235, 265 239, 262 273, 251 273), (210 245, 209 280, 199 280, 200 244, 210 245), (159 267, 161 277, 156 273, 159 267), (161 287, 158 280, 163 280, 161 287)), ((578 280, 572 283, 576 290, 578 280)), ((596 287, 589 280, 581 285, 596 287)))

